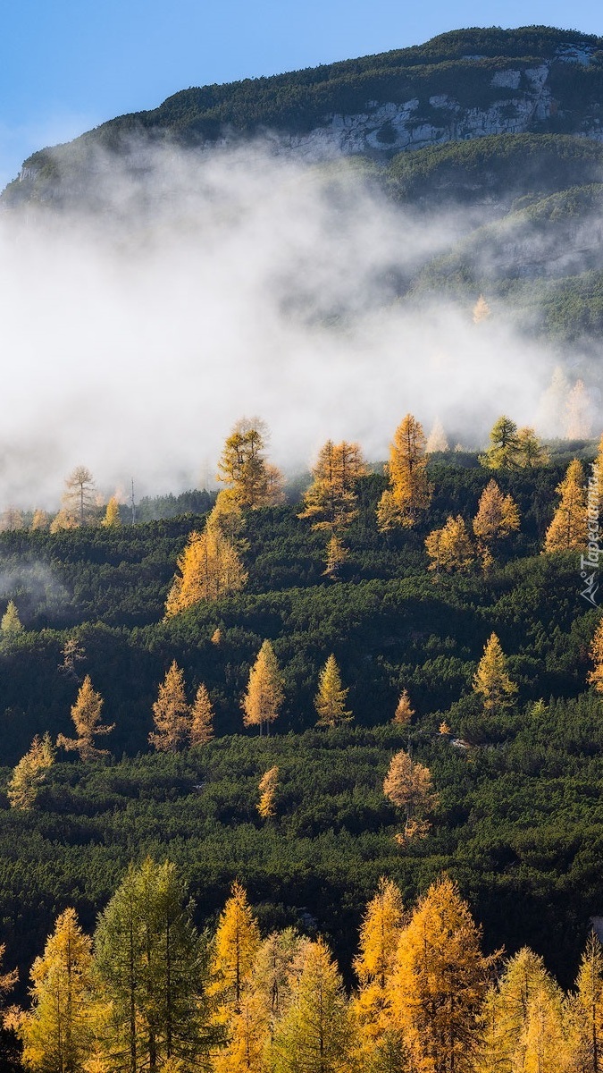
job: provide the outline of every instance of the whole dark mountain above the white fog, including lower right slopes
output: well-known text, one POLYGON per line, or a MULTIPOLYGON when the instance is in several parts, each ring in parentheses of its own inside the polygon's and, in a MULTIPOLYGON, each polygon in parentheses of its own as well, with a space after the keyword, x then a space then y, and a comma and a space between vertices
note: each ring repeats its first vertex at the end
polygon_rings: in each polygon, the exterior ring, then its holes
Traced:
POLYGON ((540 26, 457 30, 182 90, 33 153, 0 206, 127 218, 116 174, 148 205, 158 147, 207 153, 261 136, 274 155, 330 170, 354 158, 401 207, 458 217, 453 245, 400 280, 397 299, 444 293, 467 306, 484 292, 497 314, 563 346, 603 327, 602 118, 603 39, 540 26))

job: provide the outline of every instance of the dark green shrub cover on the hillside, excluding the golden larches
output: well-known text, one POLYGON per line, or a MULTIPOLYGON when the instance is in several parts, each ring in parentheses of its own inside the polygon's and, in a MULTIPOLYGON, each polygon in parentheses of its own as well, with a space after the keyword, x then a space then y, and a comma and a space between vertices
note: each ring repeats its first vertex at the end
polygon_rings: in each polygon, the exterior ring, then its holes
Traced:
MULTIPOLYGON (((591 457, 592 445, 573 447, 591 457)), ((447 870, 489 949, 529 942, 569 983, 588 920, 603 907, 603 880, 601 700, 587 682, 600 613, 579 597, 576 553, 542 554, 568 457, 496 474, 520 528, 499 541, 486 573, 479 563, 427 569, 426 535, 452 515, 469 524, 491 476, 474 455, 460 465, 444 453, 429 466, 428 513, 410 529, 380 532, 385 481, 358 482, 337 579, 325 575, 325 533, 297 517, 298 501, 261 508, 246 513, 244 590, 167 619, 176 558, 205 515, 0 534, 6 598, 25 627, 5 626, 0 642, 0 901, 12 960, 31 960, 67 903, 91 928, 128 861, 150 853, 181 866, 200 924, 215 921, 238 878, 266 930, 326 934, 347 971, 379 876, 411 898, 447 870), (487 712, 473 681, 492 632, 518 692, 487 712), (240 705, 265 640, 284 703, 270 737, 259 737, 244 727, 240 705), (80 658, 71 667, 69 642, 80 658), (315 727, 329 653, 353 719, 315 727), (152 706, 174 660, 189 702, 207 686, 217 737, 159 754, 148 743, 152 706), (86 762, 60 749, 34 806, 10 808, 13 766, 34 734, 72 735, 70 709, 87 674, 103 722, 115 723, 101 739, 107 756, 86 762), (403 689, 414 715, 396 725, 403 689), (428 765, 439 805, 427 838, 400 847, 383 779, 409 745, 428 765), (259 782, 275 765, 277 812, 266 822, 259 782)))

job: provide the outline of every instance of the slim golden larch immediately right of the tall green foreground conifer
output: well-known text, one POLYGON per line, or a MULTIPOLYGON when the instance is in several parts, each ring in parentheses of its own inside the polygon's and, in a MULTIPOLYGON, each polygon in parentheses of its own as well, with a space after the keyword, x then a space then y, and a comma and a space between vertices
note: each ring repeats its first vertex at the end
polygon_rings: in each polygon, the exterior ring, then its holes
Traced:
POLYGON ((260 928, 244 887, 236 880, 218 923, 214 940, 208 994, 224 1024, 241 1009, 252 985, 252 969, 260 949, 260 928))

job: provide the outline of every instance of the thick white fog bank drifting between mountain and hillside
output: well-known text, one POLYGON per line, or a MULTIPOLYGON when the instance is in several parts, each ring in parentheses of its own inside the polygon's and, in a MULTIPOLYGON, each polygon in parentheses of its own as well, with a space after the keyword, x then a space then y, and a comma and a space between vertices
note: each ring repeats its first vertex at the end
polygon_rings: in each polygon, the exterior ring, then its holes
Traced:
POLYGON ((545 347, 399 297, 460 211, 418 218, 354 166, 260 144, 95 168, 89 210, 0 217, 2 505, 56 506, 78 464, 107 491, 198 484, 242 414, 288 469, 327 437, 383 458, 409 410, 468 444, 503 411, 533 422, 545 347))

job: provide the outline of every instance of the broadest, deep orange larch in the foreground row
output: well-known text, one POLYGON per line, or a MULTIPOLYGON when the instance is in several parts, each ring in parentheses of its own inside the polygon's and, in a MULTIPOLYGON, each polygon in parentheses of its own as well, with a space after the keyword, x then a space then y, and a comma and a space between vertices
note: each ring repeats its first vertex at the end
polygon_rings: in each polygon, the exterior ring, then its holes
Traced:
POLYGON ((495 957, 447 877, 433 883, 402 930, 393 1005, 416 1073, 473 1073, 477 1015, 495 957))

